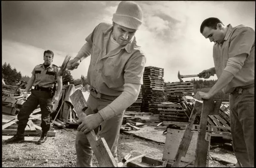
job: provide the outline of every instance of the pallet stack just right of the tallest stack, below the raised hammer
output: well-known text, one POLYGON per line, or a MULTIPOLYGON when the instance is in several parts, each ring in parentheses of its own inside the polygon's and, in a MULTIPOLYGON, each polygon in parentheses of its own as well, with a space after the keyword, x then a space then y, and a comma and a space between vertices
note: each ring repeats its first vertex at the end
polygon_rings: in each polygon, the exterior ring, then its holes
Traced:
POLYGON ((194 94, 194 84, 191 81, 165 83, 168 101, 179 103, 182 96, 194 94))

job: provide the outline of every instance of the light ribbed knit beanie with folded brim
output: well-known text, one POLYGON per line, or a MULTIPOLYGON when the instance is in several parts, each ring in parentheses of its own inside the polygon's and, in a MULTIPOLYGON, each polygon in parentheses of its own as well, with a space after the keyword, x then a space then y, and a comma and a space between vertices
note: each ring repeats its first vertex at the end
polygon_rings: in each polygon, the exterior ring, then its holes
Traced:
POLYGON ((139 26, 142 24, 142 9, 135 2, 122 1, 117 7, 112 21, 118 25, 138 30, 139 26))

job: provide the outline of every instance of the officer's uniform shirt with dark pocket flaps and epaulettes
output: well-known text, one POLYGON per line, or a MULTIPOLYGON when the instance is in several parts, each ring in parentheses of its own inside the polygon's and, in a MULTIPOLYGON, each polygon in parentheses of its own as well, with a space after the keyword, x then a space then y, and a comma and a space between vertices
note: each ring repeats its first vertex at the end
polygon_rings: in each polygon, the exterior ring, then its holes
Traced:
POLYGON ((53 87, 56 82, 57 73, 60 68, 55 64, 50 64, 49 67, 45 69, 44 64, 36 65, 32 75, 35 76, 34 86, 40 87, 53 87))

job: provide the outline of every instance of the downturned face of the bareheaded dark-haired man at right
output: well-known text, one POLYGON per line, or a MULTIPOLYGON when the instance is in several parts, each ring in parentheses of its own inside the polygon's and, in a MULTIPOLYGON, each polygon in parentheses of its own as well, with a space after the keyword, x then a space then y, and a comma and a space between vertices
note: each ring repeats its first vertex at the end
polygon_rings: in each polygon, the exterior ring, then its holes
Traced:
POLYGON ((206 39, 209 38, 210 42, 216 42, 218 44, 221 44, 225 38, 224 30, 218 26, 216 30, 211 27, 204 27, 202 35, 206 39))

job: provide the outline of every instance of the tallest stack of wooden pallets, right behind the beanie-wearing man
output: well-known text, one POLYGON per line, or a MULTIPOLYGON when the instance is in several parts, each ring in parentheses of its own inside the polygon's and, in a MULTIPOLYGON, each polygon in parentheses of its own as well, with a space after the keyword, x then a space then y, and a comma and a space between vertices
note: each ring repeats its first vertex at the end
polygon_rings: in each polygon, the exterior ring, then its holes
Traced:
POLYGON ((157 114, 157 104, 164 101, 164 69, 158 67, 145 67, 142 85, 143 112, 157 114))

